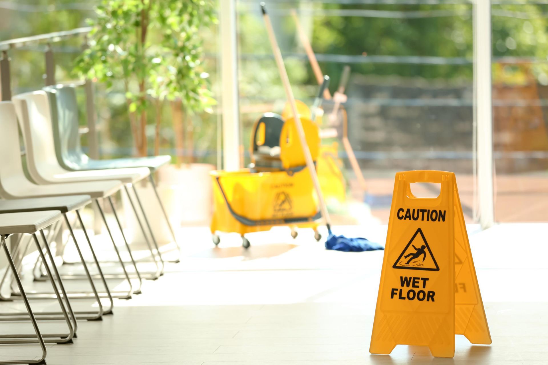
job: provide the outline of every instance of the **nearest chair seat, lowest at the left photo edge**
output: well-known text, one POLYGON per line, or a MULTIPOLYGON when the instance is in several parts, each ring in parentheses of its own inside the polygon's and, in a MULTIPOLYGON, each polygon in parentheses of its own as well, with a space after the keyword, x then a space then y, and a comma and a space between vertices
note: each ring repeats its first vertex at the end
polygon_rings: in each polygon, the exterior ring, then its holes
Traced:
POLYGON ((32 234, 59 221, 59 211, 0 214, 0 235, 32 234))

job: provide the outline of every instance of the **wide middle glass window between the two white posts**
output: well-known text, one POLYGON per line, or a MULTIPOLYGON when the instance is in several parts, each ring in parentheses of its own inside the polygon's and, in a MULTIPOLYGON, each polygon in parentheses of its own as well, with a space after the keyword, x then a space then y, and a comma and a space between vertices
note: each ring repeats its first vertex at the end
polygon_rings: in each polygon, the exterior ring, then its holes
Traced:
MULTIPOLYGON (((238 2, 239 107, 246 164, 254 122, 262 113, 281 113, 286 102, 258 3, 238 2)), ((342 140, 343 118, 333 122, 328 114, 334 103, 323 102, 321 128, 326 134, 334 128, 338 135, 324 138, 322 145, 336 146, 346 189, 344 199, 331 204, 328 199, 336 223, 386 223, 394 173, 414 169, 454 171, 466 221, 473 221, 472 5, 413 3, 269 4, 297 99, 311 106, 318 92, 303 37, 310 40, 322 72, 331 77, 330 94, 338 90, 344 68, 350 66, 344 108, 359 170, 352 168, 342 140)), ((321 171, 319 175, 322 179, 321 171)), ((420 189, 417 194, 436 194, 429 184, 420 189)))

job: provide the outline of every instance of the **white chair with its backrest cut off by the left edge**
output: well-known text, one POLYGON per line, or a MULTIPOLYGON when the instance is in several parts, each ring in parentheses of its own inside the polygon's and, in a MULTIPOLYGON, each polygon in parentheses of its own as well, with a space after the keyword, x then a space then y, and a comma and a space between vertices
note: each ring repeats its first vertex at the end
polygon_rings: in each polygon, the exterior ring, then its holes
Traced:
MULTIPOLYGON (((0 130, 2 130, 4 138, 3 143, 0 143, 0 161, 2 161, 2 163, 0 163, 0 196, 4 199, 21 199, 43 198, 47 196, 90 195, 99 208, 101 218, 109 233, 113 248, 117 254, 118 262, 121 265, 123 272, 122 276, 128 283, 127 291, 113 292, 112 294, 117 298, 128 299, 132 297, 134 292, 138 293, 141 286, 139 271, 136 270, 136 266, 132 262, 132 267, 135 268, 139 279, 139 288, 134 289, 128 271, 125 268, 125 263, 123 262, 122 256, 113 239, 110 226, 106 221, 102 207, 99 204, 99 199, 109 199, 113 194, 116 194, 118 190, 122 188, 122 182, 112 180, 48 185, 37 185, 32 183, 26 178, 21 159, 19 158, 21 153, 19 133, 15 109, 13 103, 10 101, 0 102, 0 130)), ((82 222, 81 225, 82 229, 84 229, 82 222)))

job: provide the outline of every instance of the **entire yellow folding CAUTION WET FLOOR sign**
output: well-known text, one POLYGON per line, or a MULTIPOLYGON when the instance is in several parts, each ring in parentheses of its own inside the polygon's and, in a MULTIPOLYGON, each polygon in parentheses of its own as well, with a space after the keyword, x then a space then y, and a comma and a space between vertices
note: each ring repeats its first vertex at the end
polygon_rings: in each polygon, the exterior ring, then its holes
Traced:
POLYGON ((369 352, 428 346, 453 357, 455 334, 490 344, 455 174, 396 174, 369 352), (437 198, 418 198, 412 183, 438 183, 437 198))

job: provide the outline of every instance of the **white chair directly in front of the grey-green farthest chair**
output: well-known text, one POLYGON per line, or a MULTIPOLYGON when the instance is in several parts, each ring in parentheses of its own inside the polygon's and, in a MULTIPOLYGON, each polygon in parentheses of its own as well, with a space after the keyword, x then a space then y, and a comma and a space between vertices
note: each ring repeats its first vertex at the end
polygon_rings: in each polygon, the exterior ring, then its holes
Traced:
MULTIPOLYGON (((160 275, 162 275, 164 263, 159 251, 158 243, 153 234, 146 212, 142 207, 137 189, 135 189, 135 183, 146 179, 150 175, 150 170, 147 167, 87 171, 68 171, 63 169, 61 165, 59 165, 59 161, 57 160, 55 154, 48 95, 45 91, 33 91, 15 95, 12 97, 12 100, 25 141, 25 148, 27 152, 27 169, 33 181, 41 185, 66 182, 102 181, 111 179, 121 181, 124 184, 123 186, 128 195, 128 200, 131 202, 132 209, 137 217, 137 222, 140 225, 143 236, 145 237, 145 242, 149 246, 152 260, 157 265, 156 272, 147 274, 147 278, 157 279, 160 275), (145 229, 140 221, 139 213, 133 203, 133 198, 129 194, 128 185, 133 187, 135 197, 156 250, 153 250, 150 245, 148 236, 145 233, 145 229)), ((119 221, 111 196, 109 196, 107 200, 109 200, 109 204, 115 215, 118 227, 122 231, 124 244, 127 247, 133 262, 133 255, 131 253, 131 249, 129 248, 129 244, 125 239, 122 224, 119 221)), ((144 275, 141 276, 144 277, 144 275)))

